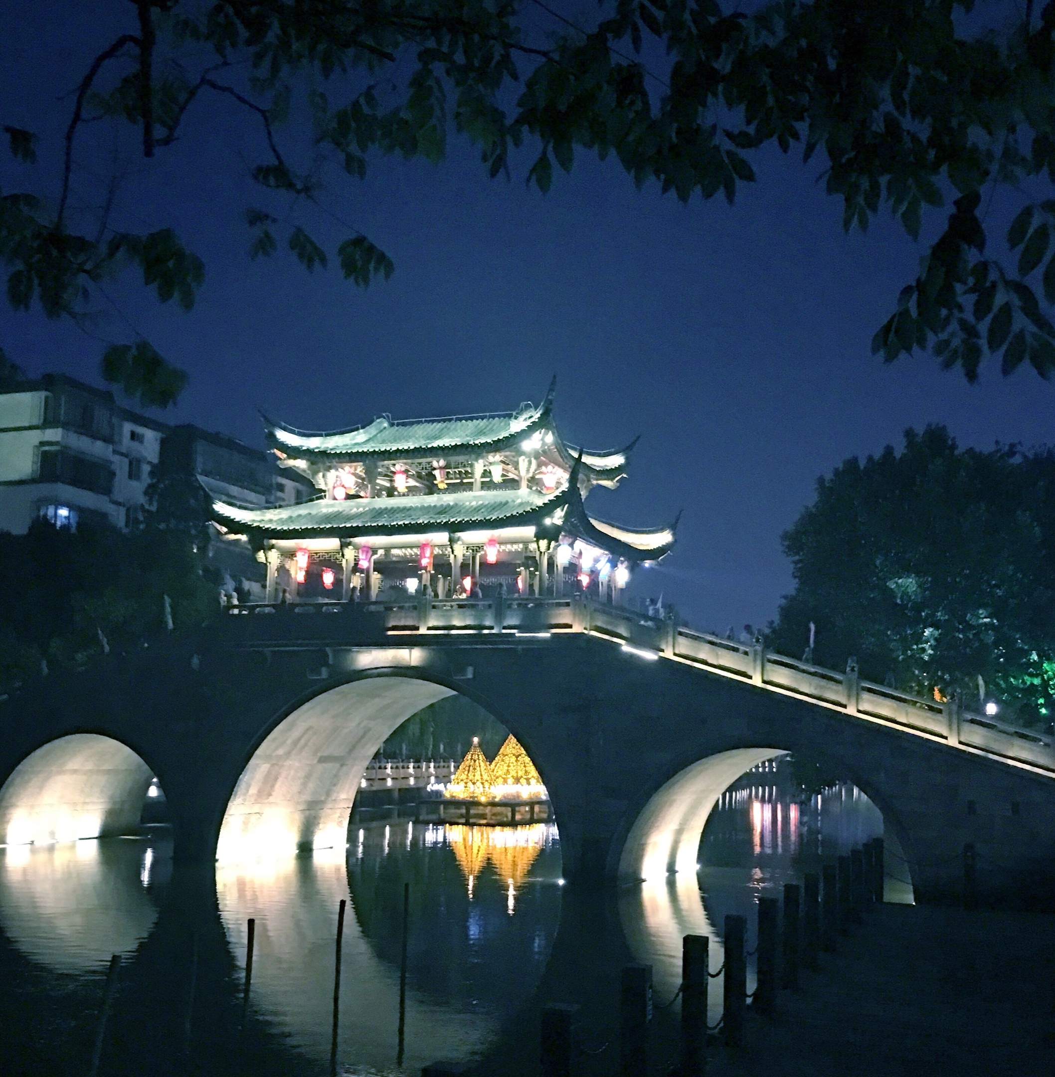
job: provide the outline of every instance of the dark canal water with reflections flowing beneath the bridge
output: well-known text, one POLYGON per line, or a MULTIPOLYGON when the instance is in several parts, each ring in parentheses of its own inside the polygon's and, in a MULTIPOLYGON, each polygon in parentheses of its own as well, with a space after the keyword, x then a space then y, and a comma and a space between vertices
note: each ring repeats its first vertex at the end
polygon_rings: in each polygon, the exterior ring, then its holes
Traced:
MULTIPOLYGON (((662 1004, 677 989, 684 934, 709 935, 717 967, 727 913, 747 915, 754 948, 759 894, 882 835, 878 811, 853 786, 807 797, 774 779, 751 773, 722 796, 695 878, 623 887, 616 898, 564 886, 553 824, 353 820, 344 850, 214 872, 173 870, 164 827, 137 839, 0 848, 0 1073, 89 1072, 115 953, 99 1075, 330 1073, 341 899, 337 1073, 417 1074, 438 1058, 531 1073, 541 1003, 583 1004, 600 1039, 617 1009, 620 965, 651 964, 662 1004)), ((752 969, 748 978, 751 990, 752 969)))

